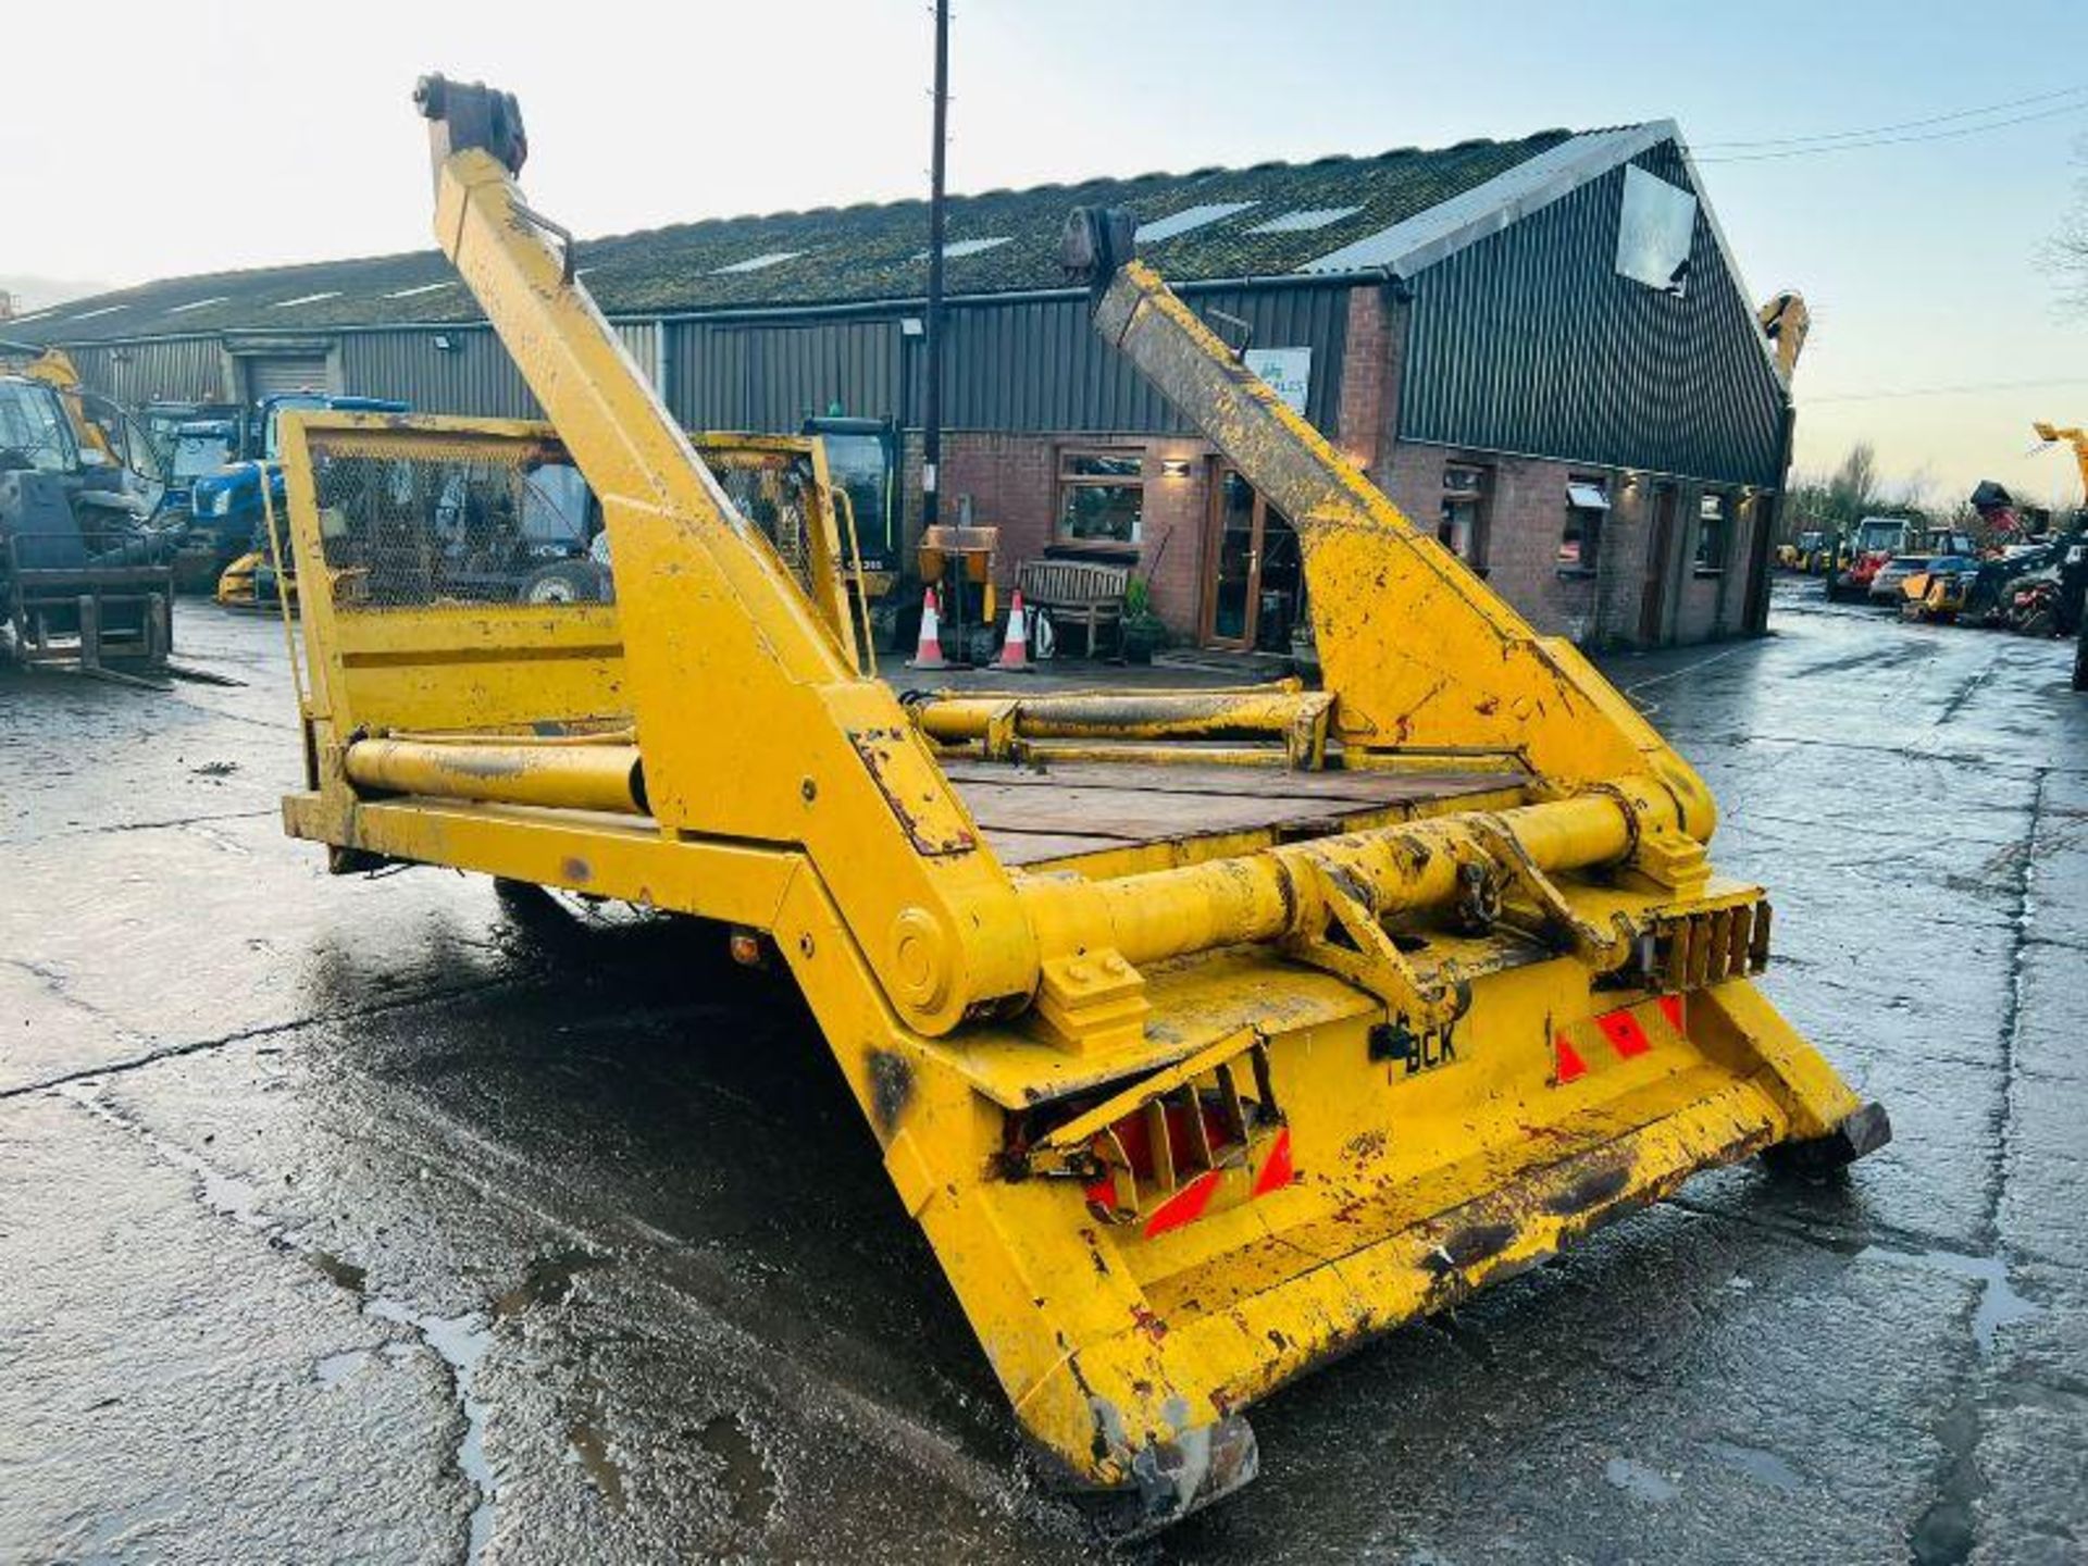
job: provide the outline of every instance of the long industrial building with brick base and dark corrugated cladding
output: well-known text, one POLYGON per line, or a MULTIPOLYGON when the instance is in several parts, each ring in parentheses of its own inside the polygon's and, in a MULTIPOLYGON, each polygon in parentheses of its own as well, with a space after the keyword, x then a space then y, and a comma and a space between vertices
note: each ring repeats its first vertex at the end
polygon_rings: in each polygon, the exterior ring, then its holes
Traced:
MULTIPOLYGON (((1789 388, 1672 121, 950 200, 946 505, 1142 572, 1173 633, 1282 649, 1297 535, 1119 363, 1059 276, 1073 205, 1539 628, 1758 631, 1789 388)), ((576 265, 689 428, 889 420, 919 503, 925 203, 685 223, 576 265)), ((434 251, 180 278, 17 317, 127 401, 303 386, 443 413, 532 399, 434 251)))

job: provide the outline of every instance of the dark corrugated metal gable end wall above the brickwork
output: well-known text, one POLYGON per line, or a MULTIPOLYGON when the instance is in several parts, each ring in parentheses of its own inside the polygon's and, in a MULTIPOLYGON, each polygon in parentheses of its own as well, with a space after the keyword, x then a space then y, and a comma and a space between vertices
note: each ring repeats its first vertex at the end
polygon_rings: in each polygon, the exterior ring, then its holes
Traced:
MULTIPOLYGON (((1691 188, 1675 144, 1633 159, 1691 188)), ((1411 280, 1399 432, 1781 484, 1783 388, 1698 211, 1681 299, 1616 274, 1616 169, 1411 280)))

